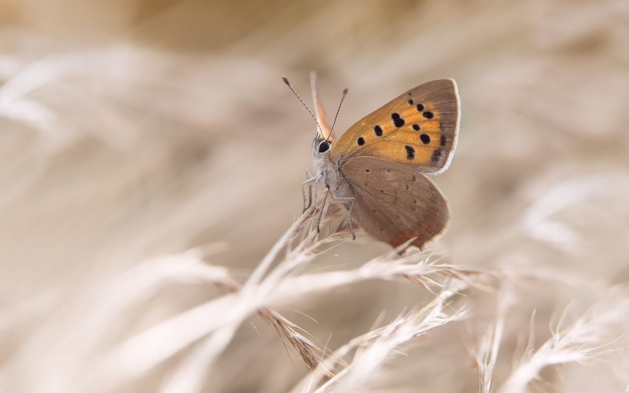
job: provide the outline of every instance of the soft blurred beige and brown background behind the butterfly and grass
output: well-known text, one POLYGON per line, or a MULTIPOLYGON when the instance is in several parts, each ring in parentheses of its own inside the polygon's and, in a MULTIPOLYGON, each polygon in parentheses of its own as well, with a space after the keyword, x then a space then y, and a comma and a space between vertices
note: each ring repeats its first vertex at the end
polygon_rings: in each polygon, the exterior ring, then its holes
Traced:
MULTIPOLYGON (((566 304, 582 312, 629 280, 625 0, 0 0, 0 386, 70 391, 99 353, 221 293, 173 282, 104 318, 116 280, 154 258, 211 248, 246 279, 301 214, 315 125, 281 76, 310 104, 310 70, 328 113, 349 87, 337 136, 413 86, 457 80, 459 145, 435 177, 453 221, 435 250, 555 280, 518 289, 513 345, 532 309, 544 340, 566 304)), ((385 250, 359 236, 316 268, 385 250)), ((337 348, 426 295, 366 282, 281 311, 337 348)), ((475 301, 475 318, 495 309, 475 301)), ((423 371, 395 389, 475 391, 465 347, 491 318, 448 330, 451 348, 425 344, 423 371)), ((185 353, 115 390, 159 390, 185 353)), ((306 371, 244 324, 203 391, 283 392, 306 371)), ((562 373, 535 391, 629 384, 604 362, 562 373)))

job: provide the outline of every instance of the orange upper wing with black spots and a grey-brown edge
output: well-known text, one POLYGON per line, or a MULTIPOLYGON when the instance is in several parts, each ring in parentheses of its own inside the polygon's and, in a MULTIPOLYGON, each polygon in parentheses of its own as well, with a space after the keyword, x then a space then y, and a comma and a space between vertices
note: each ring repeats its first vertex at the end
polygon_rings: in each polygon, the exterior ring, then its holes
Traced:
POLYGON ((448 168, 459 132, 459 94, 453 79, 421 84, 348 128, 333 144, 331 159, 341 167, 355 157, 377 157, 416 170, 448 168))

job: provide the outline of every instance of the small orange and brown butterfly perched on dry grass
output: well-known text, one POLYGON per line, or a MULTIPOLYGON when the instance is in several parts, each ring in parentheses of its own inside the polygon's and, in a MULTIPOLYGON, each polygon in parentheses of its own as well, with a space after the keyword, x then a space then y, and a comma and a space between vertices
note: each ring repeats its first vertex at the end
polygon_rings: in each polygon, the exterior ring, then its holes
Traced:
MULTIPOLYGON (((286 78, 284 82, 291 87, 286 78)), ((315 84, 311 74, 318 131, 312 142, 315 174, 302 186, 304 211, 311 204, 306 206, 305 187, 322 182, 322 206, 328 195, 345 204, 352 238, 353 224, 393 247, 412 240, 421 249, 443 235, 450 206, 426 175, 448 169, 457 146, 460 100, 454 79, 413 87, 354 123, 338 140, 331 135, 315 84)))

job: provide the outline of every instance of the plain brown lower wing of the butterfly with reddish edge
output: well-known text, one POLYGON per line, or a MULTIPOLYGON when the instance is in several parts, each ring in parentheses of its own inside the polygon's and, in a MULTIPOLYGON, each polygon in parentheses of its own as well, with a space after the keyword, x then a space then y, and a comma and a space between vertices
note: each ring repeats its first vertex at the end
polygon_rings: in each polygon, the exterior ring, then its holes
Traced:
POLYGON ((341 170, 354 190, 352 219, 377 240, 395 247, 416 238, 422 248, 447 229, 447 199, 415 167, 356 157, 341 170))

